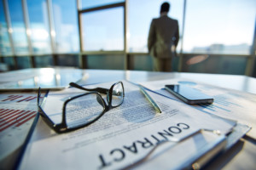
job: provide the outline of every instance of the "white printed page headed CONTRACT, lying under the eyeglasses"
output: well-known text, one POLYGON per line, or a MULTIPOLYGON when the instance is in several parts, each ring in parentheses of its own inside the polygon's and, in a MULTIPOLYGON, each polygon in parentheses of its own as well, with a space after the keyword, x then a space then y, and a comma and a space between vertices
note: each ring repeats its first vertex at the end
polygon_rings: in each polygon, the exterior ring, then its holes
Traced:
MULTIPOLYGON (((162 163, 169 168, 183 168, 191 166, 214 148, 215 152, 221 150, 225 144, 224 135, 236 126, 235 121, 205 114, 148 92, 162 110, 158 113, 137 86, 122 82, 124 103, 88 127, 57 134, 42 120, 38 122, 20 169, 122 169, 137 165, 150 152, 152 164, 148 167, 152 169, 162 163), (162 142, 166 144, 162 145, 162 142), (165 160, 162 156, 170 156, 172 161, 161 161, 165 160)), ((86 88, 110 88, 112 84, 86 88)), ((67 97, 82 93, 83 90, 76 88, 49 92, 45 113, 54 122, 60 122, 63 102, 67 97)), ((214 154, 211 152, 212 156, 214 154)), ((143 164, 135 168, 143 168, 143 164)))

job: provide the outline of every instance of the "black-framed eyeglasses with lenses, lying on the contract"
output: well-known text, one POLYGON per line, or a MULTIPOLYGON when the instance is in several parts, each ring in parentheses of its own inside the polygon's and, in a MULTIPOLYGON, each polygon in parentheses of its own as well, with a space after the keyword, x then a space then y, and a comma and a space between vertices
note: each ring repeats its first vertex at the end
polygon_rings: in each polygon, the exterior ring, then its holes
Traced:
POLYGON ((67 133, 81 127, 86 127, 96 122, 107 111, 121 105, 125 98, 123 82, 114 83, 111 88, 84 88, 71 82, 73 88, 91 91, 79 94, 67 99, 62 107, 61 123, 55 124, 42 109, 41 90, 38 89, 38 109, 44 121, 55 130, 56 133, 67 133), (101 94, 107 94, 107 103, 101 94))

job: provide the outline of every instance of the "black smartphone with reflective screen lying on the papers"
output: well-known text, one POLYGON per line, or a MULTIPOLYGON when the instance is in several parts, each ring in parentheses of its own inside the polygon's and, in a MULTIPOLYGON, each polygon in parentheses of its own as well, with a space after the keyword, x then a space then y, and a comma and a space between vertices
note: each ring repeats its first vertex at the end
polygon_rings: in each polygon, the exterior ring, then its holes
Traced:
POLYGON ((185 84, 166 85, 166 90, 189 105, 212 104, 213 98, 185 84))

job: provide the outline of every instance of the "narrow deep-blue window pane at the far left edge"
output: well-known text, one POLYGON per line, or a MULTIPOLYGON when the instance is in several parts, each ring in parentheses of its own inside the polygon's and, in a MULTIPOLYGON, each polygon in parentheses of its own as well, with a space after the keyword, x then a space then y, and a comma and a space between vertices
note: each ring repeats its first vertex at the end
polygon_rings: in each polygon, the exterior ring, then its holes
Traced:
POLYGON ((11 55, 12 49, 9 41, 8 26, 3 10, 3 1, 0 1, 0 54, 11 55))

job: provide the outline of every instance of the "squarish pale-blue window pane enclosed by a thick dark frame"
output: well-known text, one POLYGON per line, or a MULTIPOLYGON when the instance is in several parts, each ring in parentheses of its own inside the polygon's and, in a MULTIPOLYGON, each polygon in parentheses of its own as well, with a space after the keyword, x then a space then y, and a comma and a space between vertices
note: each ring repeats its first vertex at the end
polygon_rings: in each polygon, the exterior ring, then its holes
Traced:
POLYGON ((82 15, 84 51, 124 50, 124 8, 82 15))

